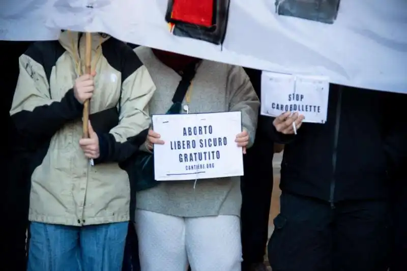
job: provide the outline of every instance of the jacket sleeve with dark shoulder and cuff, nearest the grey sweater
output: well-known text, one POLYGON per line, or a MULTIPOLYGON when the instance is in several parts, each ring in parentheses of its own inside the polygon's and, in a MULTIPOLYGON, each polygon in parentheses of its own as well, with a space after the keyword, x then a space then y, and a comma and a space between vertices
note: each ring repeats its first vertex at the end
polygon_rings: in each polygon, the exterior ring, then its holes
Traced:
POLYGON ((155 84, 137 55, 127 45, 123 48, 122 97, 119 125, 109 133, 98 134, 100 157, 95 163, 122 162, 146 140, 150 126, 148 104, 155 84))

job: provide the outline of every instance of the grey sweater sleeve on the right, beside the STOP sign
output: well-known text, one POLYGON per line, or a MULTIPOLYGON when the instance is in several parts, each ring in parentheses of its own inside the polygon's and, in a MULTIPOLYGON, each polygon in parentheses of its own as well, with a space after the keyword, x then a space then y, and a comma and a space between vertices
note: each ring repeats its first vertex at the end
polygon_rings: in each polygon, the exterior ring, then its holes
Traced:
POLYGON ((242 67, 229 66, 227 77, 227 93, 229 95, 229 111, 242 112, 242 126, 249 133, 249 145, 253 145, 260 101, 242 67))

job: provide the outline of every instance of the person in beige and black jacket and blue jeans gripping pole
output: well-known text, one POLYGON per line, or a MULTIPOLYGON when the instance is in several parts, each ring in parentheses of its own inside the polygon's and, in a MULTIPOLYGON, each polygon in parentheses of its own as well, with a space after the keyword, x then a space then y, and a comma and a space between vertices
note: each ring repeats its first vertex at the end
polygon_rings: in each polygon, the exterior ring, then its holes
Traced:
POLYGON ((10 114, 31 154, 30 271, 121 270, 131 197, 117 162, 128 154, 112 146, 149 127, 155 85, 125 43, 92 39, 92 75, 82 75, 82 33, 36 42, 19 59, 10 114), (81 139, 86 99, 92 125, 81 139))

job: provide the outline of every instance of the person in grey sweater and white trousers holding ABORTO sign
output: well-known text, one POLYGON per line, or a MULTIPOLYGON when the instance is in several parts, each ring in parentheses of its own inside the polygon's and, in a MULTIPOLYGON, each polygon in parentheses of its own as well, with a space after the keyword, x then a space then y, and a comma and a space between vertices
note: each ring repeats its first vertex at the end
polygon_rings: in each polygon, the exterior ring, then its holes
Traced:
MULTIPOLYGON (((253 144, 259 99, 242 67, 196 59, 147 47, 135 49, 157 87, 151 114, 165 114, 182 71, 196 62, 196 74, 185 99, 189 113, 242 112, 242 133, 236 144, 253 144)), ((187 112, 184 112, 187 113, 187 112)), ((149 131, 146 148, 165 144, 149 131)), ((142 271, 240 271, 242 245, 240 176, 170 181, 137 192, 135 228, 142 271)))

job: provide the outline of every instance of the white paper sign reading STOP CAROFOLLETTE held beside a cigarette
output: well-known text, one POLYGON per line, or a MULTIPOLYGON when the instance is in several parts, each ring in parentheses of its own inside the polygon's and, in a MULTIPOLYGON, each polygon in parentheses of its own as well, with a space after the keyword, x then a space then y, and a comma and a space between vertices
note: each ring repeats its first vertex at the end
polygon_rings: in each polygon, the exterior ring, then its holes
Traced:
POLYGON ((304 115, 304 122, 325 123, 328 114, 329 78, 273 72, 261 73, 261 108, 266 116, 290 111, 304 115))

